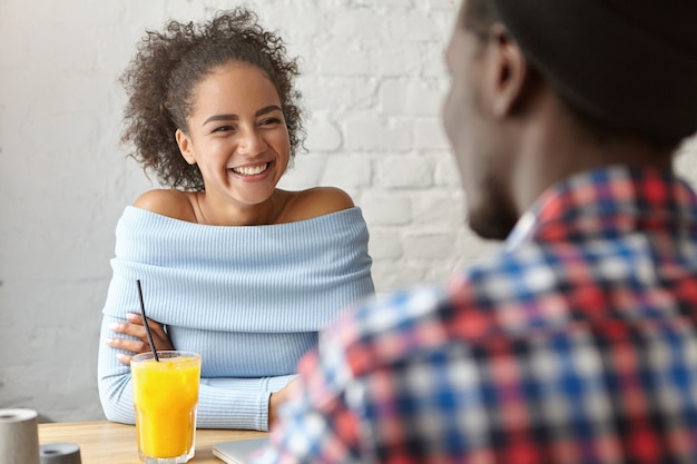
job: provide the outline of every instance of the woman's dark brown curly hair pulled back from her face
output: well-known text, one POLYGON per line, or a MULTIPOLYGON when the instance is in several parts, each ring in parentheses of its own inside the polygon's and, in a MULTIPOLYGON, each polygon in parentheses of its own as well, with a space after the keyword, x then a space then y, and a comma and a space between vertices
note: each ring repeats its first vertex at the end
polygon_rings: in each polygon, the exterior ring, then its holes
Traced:
POLYGON ((161 32, 147 31, 121 76, 129 96, 121 141, 135 145, 132 157, 163 185, 204 190, 200 170, 181 157, 175 131, 188 131, 196 85, 230 61, 256 66, 268 76, 281 98, 291 156, 302 146, 301 93, 293 88, 297 60, 286 56, 283 40, 265 31, 254 12, 236 8, 200 24, 170 21, 161 32))

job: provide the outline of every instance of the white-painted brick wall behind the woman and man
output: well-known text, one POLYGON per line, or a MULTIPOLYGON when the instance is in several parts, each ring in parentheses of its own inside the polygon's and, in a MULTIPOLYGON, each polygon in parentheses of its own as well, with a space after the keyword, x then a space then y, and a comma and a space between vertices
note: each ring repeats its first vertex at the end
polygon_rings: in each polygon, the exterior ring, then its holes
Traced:
MULTIPOLYGON (((442 280, 493 245, 463 226, 439 120, 454 0, 0 0, 0 407, 101 418, 96 357, 124 207, 154 187, 119 146, 118 77, 146 28, 253 7, 303 57, 308 154, 371 230, 377 290, 442 280)), ((697 179, 691 156, 680 171, 697 179)))

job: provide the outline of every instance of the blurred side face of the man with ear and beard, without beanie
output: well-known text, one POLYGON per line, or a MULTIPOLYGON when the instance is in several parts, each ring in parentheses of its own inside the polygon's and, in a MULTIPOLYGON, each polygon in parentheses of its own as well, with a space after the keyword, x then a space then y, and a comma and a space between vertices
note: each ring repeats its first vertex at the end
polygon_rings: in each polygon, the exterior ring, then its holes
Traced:
POLYGON ((514 136, 498 120, 501 111, 511 109, 510 93, 526 79, 521 76, 526 73, 524 57, 504 32, 485 0, 462 4, 445 56, 452 82, 443 107, 443 125, 467 194, 470 227, 482 237, 497 239, 504 238, 518 220, 509 188, 512 147, 508 144, 514 136))

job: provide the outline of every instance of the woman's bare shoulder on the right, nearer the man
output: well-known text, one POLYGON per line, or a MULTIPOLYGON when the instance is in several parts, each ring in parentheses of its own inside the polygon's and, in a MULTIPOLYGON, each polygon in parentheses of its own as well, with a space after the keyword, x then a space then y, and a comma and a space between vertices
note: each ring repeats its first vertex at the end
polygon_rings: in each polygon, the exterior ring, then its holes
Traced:
POLYGON ((302 191, 288 191, 284 216, 287 221, 312 219, 354 207, 353 199, 335 187, 314 187, 302 191))

